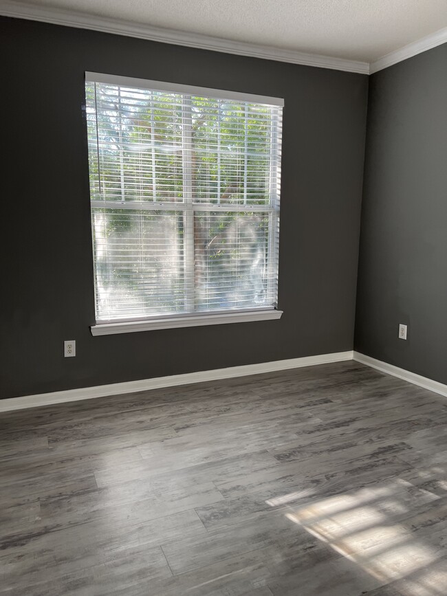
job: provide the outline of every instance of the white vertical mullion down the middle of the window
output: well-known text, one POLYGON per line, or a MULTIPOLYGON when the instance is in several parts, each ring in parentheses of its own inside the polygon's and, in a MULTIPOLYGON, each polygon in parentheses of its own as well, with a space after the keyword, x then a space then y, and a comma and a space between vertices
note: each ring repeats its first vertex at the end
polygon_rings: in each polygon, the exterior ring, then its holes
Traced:
POLYGON ((194 311, 193 113, 190 96, 183 96, 183 200, 185 306, 186 311, 194 311))

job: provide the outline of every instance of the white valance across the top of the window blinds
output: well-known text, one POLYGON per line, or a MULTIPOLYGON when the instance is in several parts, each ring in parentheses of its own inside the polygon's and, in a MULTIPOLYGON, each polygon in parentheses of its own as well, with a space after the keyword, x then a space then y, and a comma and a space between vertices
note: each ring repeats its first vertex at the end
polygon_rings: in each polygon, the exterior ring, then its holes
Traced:
POLYGON ((180 85, 177 82, 163 80, 148 80, 145 78, 134 78, 133 76, 121 76, 118 74, 104 74, 101 72, 86 72, 85 80, 89 82, 105 82, 109 85, 120 85, 123 87, 137 87, 138 89, 151 89, 155 91, 171 91, 173 93, 185 93, 186 95, 205 96, 217 99, 229 99, 284 107, 283 98, 254 95, 254 93, 241 93, 239 91, 230 91, 228 89, 212 89, 210 87, 196 87, 195 85, 180 85))

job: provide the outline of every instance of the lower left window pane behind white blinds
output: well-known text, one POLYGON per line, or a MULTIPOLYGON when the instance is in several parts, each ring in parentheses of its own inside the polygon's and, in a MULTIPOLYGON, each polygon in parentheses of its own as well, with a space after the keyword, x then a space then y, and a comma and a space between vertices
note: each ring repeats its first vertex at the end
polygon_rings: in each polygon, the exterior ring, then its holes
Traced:
POLYGON ((184 310, 181 212, 94 209, 98 320, 184 310))

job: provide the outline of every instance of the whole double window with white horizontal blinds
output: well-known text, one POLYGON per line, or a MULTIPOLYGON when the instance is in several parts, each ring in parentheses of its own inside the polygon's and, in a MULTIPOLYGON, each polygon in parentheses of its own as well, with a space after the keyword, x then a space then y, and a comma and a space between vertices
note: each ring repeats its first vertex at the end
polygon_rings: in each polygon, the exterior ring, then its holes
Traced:
POLYGON ((85 92, 92 333, 279 318, 282 100, 96 73, 85 92))

